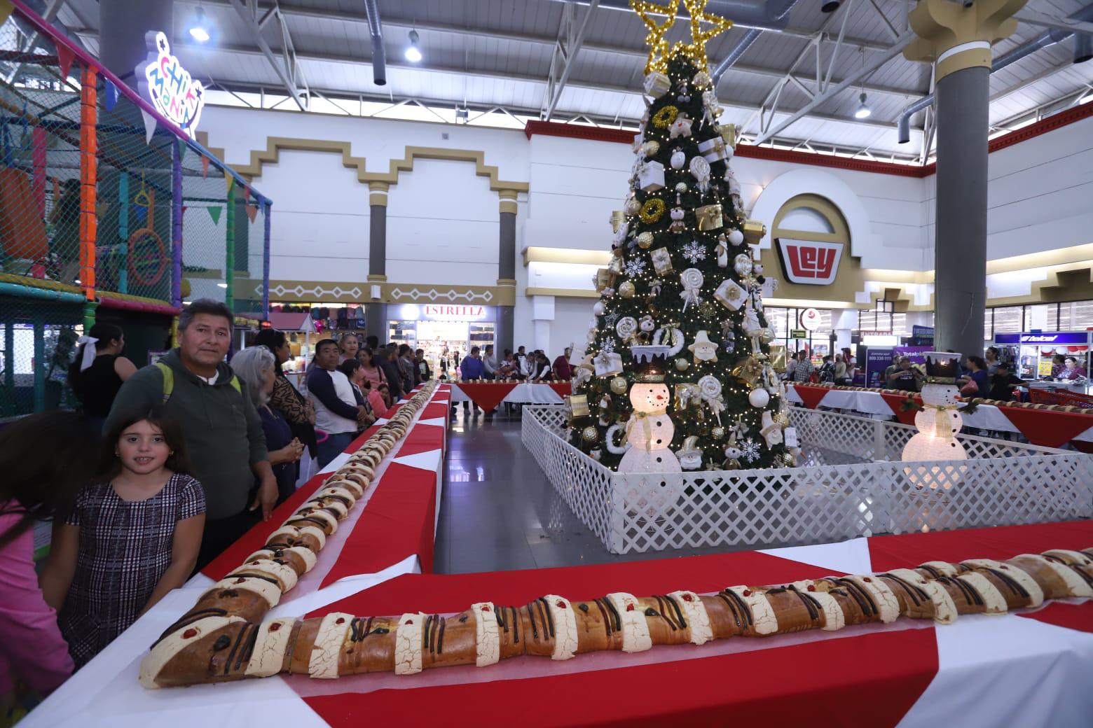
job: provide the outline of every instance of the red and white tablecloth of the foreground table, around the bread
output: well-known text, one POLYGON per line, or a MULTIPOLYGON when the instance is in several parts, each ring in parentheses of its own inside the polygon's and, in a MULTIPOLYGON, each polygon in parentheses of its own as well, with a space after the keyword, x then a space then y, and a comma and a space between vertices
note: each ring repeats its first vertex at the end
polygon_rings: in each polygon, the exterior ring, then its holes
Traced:
MULTIPOLYGON (((385 476, 386 477, 386 476, 385 476)), ((357 528, 360 530, 360 527, 357 528)), ((383 548, 386 535, 369 539, 383 548)), ((543 594, 588 598, 614 590, 716 592, 730 584, 783 583, 878 572, 927 560, 1002 559, 1093 545, 1093 523, 1069 522, 858 538, 764 551, 479 574, 416 574, 406 561, 378 573, 362 561, 271 617, 406 611, 453 613, 493 600, 543 594)), ((362 558, 366 549, 361 550, 362 558)), ((412 559, 409 559, 412 561, 412 559)), ((901 619, 890 625, 733 639, 702 647, 595 653, 566 663, 520 657, 490 668, 416 676, 313 680, 274 677, 146 691, 137 670, 148 645, 200 592, 163 602, 34 711, 35 726, 284 725, 767 725, 1089 726, 1093 715, 1093 600, 1068 599, 955 624, 901 619)), ((291 594, 291 593, 290 593, 291 594)), ((289 595, 286 595, 287 597, 289 595)))

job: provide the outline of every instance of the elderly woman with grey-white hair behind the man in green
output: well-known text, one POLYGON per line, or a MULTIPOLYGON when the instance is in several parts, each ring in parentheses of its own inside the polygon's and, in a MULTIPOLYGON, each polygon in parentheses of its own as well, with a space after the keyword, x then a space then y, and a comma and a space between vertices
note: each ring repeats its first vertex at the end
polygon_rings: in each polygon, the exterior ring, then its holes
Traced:
POLYGON ((251 346, 232 357, 232 369, 243 381, 245 394, 262 418, 262 432, 270 453, 270 465, 277 477, 277 502, 280 505, 296 489, 296 468, 293 464, 304 453, 304 443, 292 437, 287 420, 270 406, 277 359, 265 346, 251 346))

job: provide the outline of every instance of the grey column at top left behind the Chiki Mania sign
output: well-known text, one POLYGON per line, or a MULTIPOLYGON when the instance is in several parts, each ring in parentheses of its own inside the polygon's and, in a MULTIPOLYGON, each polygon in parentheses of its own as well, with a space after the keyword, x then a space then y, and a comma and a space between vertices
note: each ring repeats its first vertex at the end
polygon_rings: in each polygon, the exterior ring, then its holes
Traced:
MULTIPOLYGON (((133 69, 148 57, 144 34, 163 31, 174 49, 174 0, 99 0, 98 58, 130 86, 137 85, 133 69)), ((190 5, 184 9, 192 11, 190 5)))

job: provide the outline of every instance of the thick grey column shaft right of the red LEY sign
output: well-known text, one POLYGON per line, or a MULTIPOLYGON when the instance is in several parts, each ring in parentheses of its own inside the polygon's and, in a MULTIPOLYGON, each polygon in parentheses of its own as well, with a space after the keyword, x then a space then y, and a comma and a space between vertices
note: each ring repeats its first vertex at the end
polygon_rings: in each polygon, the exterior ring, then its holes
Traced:
POLYGON ((987 306, 987 127, 990 69, 937 84, 935 344, 983 356, 987 306))

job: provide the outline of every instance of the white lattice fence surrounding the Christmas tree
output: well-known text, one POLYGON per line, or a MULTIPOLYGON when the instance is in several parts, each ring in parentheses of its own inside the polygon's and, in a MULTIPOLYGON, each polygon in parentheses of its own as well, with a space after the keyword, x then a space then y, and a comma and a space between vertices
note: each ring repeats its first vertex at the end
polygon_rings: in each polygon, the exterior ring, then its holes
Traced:
POLYGON ((973 460, 902 463, 914 428, 807 409, 792 410, 791 419, 807 465, 771 470, 613 473, 565 441, 563 406, 525 407, 522 439, 555 490, 614 553, 1093 515, 1088 455, 967 435, 961 441, 973 460))

